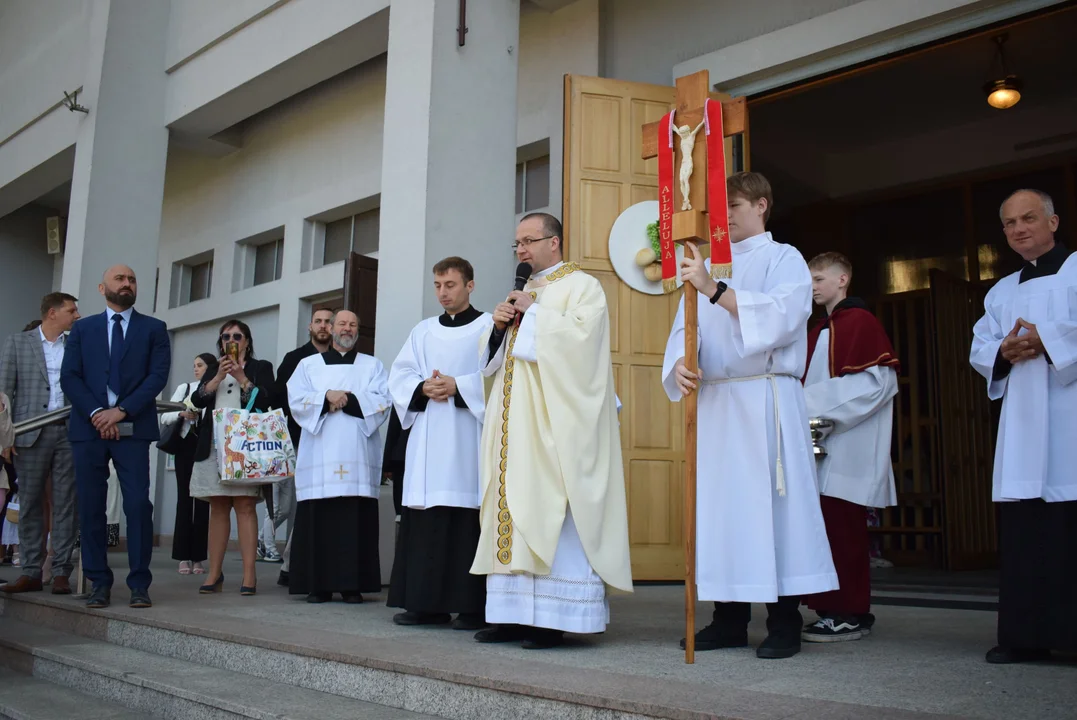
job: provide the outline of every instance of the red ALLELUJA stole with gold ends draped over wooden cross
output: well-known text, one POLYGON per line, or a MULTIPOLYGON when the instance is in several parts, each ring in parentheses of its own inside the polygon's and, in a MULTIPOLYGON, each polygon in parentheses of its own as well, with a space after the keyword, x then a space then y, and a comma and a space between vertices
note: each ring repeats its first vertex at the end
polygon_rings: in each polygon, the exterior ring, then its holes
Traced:
MULTIPOLYGON (((676 111, 658 123, 658 243, 662 263, 662 291, 676 290, 676 253, 673 249, 673 128, 676 111)), ((731 278, 733 256, 729 244, 729 211, 726 196, 726 142, 722 103, 708 99, 703 105, 707 132, 707 220, 711 232, 711 277, 731 278)), ((683 161, 683 160, 682 160, 683 161)))

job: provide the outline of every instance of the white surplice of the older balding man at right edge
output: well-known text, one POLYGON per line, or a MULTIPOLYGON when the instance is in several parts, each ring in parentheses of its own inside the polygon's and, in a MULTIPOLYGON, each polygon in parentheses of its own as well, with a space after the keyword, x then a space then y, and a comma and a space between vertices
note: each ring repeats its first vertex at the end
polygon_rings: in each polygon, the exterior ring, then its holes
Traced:
POLYGON ((969 362, 987 378, 988 396, 1003 399, 992 498, 1077 500, 1077 255, 1053 276, 1020 277, 991 288, 973 328, 969 362), (1036 326, 1051 364, 1040 355, 995 380, 998 349, 1018 317, 1036 326))

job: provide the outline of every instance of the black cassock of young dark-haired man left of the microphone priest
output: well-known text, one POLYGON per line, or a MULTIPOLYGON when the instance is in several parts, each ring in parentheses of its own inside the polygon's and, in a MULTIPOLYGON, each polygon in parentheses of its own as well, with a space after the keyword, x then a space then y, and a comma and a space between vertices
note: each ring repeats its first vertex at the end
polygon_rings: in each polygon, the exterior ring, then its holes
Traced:
MULTIPOLYGON (((456 317, 443 314, 438 322, 446 327, 459 327, 481 314, 468 308, 456 317)), ((410 409, 424 410, 428 400, 420 384, 411 398, 410 409)), ((467 407, 459 395, 454 403, 457 407, 467 407)), ((403 485, 403 463, 400 463, 394 482, 403 485)), ((478 548, 478 510, 400 507, 397 511, 401 523, 389 582, 389 607, 409 612, 482 616, 486 612, 486 577, 471 574, 478 548)))

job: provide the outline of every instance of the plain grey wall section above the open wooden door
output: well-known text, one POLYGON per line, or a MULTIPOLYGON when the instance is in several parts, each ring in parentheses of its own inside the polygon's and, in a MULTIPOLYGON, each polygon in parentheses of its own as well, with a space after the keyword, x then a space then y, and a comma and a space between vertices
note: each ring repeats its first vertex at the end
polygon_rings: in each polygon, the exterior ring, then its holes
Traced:
POLYGON ((672 85, 677 62, 858 1, 600 0, 599 68, 603 77, 672 85))

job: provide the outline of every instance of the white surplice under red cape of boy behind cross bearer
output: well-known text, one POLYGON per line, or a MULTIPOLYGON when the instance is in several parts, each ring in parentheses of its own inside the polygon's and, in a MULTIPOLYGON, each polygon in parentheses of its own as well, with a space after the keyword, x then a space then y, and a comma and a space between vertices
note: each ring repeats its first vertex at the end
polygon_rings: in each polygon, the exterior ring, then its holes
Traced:
POLYGON ((890 460, 897 372, 877 365, 831 378, 829 352, 824 328, 805 379, 808 417, 834 421, 816 467, 820 493, 869 508, 897 505, 890 460))

